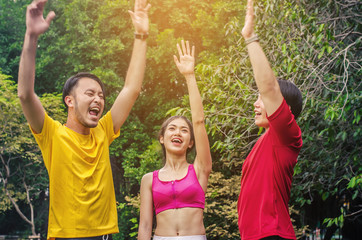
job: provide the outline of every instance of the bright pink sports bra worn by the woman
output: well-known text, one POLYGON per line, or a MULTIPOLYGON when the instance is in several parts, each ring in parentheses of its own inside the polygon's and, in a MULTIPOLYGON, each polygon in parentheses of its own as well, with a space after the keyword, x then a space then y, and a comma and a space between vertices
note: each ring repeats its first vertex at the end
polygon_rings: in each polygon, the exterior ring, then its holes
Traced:
POLYGON ((175 208, 205 208, 205 193, 197 179, 194 165, 190 164, 184 178, 161 181, 158 171, 153 172, 152 197, 156 214, 175 208))

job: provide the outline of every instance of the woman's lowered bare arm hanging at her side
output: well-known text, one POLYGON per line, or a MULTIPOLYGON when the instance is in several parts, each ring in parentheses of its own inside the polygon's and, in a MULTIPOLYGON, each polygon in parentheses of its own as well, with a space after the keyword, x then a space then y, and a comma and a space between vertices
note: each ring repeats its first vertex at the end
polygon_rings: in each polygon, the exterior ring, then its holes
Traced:
POLYGON ((152 235, 152 176, 152 172, 147 173, 141 180, 141 207, 140 224, 138 226, 138 240, 150 240, 152 235))

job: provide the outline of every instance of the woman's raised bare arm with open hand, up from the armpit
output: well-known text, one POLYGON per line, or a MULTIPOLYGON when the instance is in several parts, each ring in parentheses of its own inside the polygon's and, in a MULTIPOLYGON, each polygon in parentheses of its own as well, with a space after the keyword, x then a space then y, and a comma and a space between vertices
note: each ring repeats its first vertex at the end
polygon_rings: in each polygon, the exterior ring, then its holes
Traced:
POLYGON ((194 166, 199 182, 206 190, 208 177, 212 168, 209 139, 205 129, 204 109, 202 99, 195 78, 195 47, 190 49, 189 42, 181 41, 181 47, 177 44, 180 60, 174 56, 176 66, 180 73, 185 77, 189 91, 192 125, 195 134, 195 145, 197 156, 194 166))

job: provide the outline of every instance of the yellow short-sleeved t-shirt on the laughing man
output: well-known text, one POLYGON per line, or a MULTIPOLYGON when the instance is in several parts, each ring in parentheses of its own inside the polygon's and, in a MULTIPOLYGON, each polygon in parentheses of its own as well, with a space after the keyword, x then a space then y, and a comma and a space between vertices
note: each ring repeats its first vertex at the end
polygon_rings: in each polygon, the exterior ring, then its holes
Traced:
POLYGON ((115 134, 111 112, 89 135, 45 114, 42 132, 32 131, 49 175, 49 238, 117 233, 117 209, 109 159, 115 134))

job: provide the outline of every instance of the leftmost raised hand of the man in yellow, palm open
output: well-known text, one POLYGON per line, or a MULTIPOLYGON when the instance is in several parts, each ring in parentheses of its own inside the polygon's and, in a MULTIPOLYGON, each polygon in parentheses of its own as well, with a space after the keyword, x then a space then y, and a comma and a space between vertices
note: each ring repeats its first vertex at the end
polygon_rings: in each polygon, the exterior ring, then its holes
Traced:
POLYGON ((26 31, 28 34, 39 36, 48 30, 55 13, 49 12, 44 19, 43 12, 47 0, 34 0, 26 10, 26 31))

